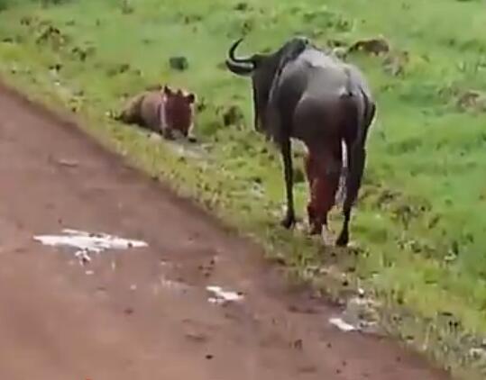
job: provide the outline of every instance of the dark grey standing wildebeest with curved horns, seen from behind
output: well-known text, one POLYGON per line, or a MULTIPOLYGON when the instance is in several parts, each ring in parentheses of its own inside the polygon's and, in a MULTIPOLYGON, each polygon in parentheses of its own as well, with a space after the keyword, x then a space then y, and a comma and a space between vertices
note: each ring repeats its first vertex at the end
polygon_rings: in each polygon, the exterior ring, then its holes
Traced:
POLYGON ((347 245, 351 209, 365 165, 366 137, 376 112, 368 84, 358 68, 319 50, 307 38, 295 37, 273 53, 243 59, 235 57, 242 41, 233 43, 225 63, 234 74, 252 77, 254 128, 280 147, 287 194, 281 224, 290 228, 296 222, 291 139, 302 140, 314 158, 326 162, 324 176, 329 183, 342 171, 344 141, 348 175, 344 224, 336 244, 347 245))

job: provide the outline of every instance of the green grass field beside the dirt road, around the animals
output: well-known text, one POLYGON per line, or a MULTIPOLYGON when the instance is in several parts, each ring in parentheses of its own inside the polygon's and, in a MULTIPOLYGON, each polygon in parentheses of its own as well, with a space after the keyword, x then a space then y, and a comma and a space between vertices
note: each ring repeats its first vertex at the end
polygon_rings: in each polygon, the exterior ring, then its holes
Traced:
MULTIPOLYGON (((433 335, 426 348, 436 358, 486 373, 481 360, 472 363, 464 350, 486 334, 485 118, 455 104, 464 91, 486 90, 481 1, 250 0, 244 11, 235 10, 233 0, 44 3, 50 5, 0 0, 5 79, 82 114, 87 129, 107 145, 251 234, 293 273, 310 273, 316 285, 326 279, 310 269, 329 265, 332 256, 315 240, 278 226, 280 157, 252 131, 250 83, 221 68, 226 50, 248 32, 242 47, 248 52, 277 48, 294 33, 322 45, 382 34, 394 50, 408 51, 399 76, 381 58, 350 57, 369 78, 378 118, 352 225, 360 249, 358 255, 338 251, 333 263, 344 273, 353 269, 347 276, 385 301, 387 311, 412 313, 407 322, 390 320, 393 332, 426 327, 416 346, 433 335), (21 23, 27 15, 30 25, 21 23), (39 39, 48 25, 61 38, 39 39), (173 55, 185 55, 189 69, 170 70, 173 55), (57 75, 49 70, 55 64, 62 65, 57 75), (196 131, 204 158, 180 158, 166 143, 105 116, 120 107, 125 93, 166 81, 190 88, 206 104, 196 131), (243 111, 243 128, 223 125, 222 114, 233 105, 243 111), (457 329, 450 329, 451 320, 457 329)), ((300 182, 301 216, 306 192, 300 182)), ((335 230, 339 221, 336 213, 335 230)))

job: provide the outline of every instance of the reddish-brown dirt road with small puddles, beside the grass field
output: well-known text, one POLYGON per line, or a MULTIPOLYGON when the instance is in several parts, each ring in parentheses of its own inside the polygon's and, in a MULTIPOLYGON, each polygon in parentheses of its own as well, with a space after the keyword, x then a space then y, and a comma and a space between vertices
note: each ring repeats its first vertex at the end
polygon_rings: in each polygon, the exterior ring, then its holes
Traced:
POLYGON ((2 379, 449 378, 388 339, 337 330, 338 311, 290 292, 258 248, 4 87, 0 181, 2 379), (62 228, 149 246, 81 267, 32 239, 62 228), (243 301, 209 303, 206 285, 243 301))

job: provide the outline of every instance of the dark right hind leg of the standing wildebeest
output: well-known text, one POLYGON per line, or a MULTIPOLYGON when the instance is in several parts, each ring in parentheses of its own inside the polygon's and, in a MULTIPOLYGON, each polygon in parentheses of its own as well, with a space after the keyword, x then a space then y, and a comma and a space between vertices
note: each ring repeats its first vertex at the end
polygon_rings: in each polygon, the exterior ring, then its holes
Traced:
POLYGON ((336 240, 336 245, 345 247, 349 242, 349 222, 351 210, 358 197, 358 191, 362 183, 362 173, 366 161, 366 150, 362 144, 354 144, 353 148, 347 146, 349 172, 346 180, 346 196, 344 198, 344 222, 343 230, 336 240))

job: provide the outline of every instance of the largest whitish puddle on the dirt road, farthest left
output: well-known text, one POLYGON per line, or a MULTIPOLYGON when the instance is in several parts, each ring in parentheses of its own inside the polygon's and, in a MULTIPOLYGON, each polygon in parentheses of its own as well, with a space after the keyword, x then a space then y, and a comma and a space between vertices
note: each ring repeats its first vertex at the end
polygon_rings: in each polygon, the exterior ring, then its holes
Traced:
POLYGON ((74 255, 81 264, 91 261, 90 254, 99 254, 107 249, 131 249, 148 246, 142 240, 128 240, 106 233, 92 233, 71 229, 62 230, 60 235, 37 235, 33 239, 46 246, 77 249, 74 255))

